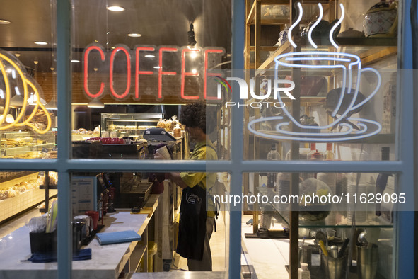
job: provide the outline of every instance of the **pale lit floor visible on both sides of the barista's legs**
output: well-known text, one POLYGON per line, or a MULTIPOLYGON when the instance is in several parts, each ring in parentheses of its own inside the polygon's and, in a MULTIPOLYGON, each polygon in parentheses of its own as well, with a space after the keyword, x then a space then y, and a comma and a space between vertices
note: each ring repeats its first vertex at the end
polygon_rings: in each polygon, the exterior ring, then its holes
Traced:
MULTIPOLYGON (((212 233, 209 244, 211 246, 212 254, 212 271, 225 271, 226 258, 225 247, 226 242, 225 224, 223 222, 222 214, 219 214, 216 220, 216 232, 212 233)), ((182 258, 180 255, 175 254, 174 261, 171 265, 170 271, 187 271, 187 259, 182 258)))

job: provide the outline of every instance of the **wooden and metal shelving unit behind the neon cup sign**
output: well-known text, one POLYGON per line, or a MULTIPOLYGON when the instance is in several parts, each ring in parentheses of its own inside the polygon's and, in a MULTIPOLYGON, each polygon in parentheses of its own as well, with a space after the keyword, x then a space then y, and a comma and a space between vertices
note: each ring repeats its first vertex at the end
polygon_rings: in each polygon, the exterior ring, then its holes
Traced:
MULTIPOLYGON (((318 4, 321 3, 324 6, 324 14, 327 13, 328 20, 331 22, 337 18, 337 7, 338 1, 301 1, 303 5, 307 4, 318 4)), ((281 0, 247 0, 246 1, 246 31, 245 31, 245 69, 248 71, 245 72, 245 78, 247 81, 250 79, 255 79, 255 93, 260 93, 260 81, 263 76, 273 79, 274 78, 274 67, 275 62, 274 58, 278 55, 288 53, 288 52, 302 52, 302 51, 326 51, 326 52, 347 52, 359 56, 361 59, 362 67, 366 67, 370 64, 376 62, 384 61, 388 57, 395 57, 397 55, 397 38, 335 38, 335 42, 339 45, 339 49, 336 50, 332 45, 323 45, 323 43, 318 38, 313 38, 313 42, 318 45, 318 48, 315 49, 310 45, 307 38, 294 36, 294 41, 297 48, 292 47, 289 40, 284 42, 281 46, 268 46, 262 45, 262 26, 263 25, 277 25, 280 26, 280 30, 283 30, 284 24, 289 26, 296 21, 292 21, 292 18, 296 18, 292 11, 292 6, 296 4, 294 0, 281 1, 281 0), (262 16, 262 6, 265 5, 283 5, 288 6, 290 14, 287 16, 277 16, 277 18, 265 18, 262 16), (252 25, 255 25, 252 28, 252 25), (252 43, 252 39, 254 42, 252 43), (266 55, 262 55, 263 52, 270 52, 267 58, 266 55), (253 54, 253 55, 252 55, 253 54), (253 56, 253 61, 252 61, 253 56)), ((312 21, 315 18, 303 18, 300 24, 306 24, 312 21)), ((296 29, 296 28, 295 28, 296 29)), ((293 35, 296 34, 294 30, 293 35)), ((288 34, 290 36, 290 34, 288 34)), ((279 32, 277 32, 277 38, 279 37, 279 32)), ((328 91, 334 87, 331 84, 334 82, 334 76, 336 72, 330 69, 286 69, 279 70, 280 76, 293 76, 293 80, 297 81, 301 79, 303 75, 308 76, 326 76, 329 80, 328 82, 328 91)), ((309 115, 310 108, 313 106, 322 106, 325 104, 325 96, 301 96, 301 89, 299 86, 296 86, 295 90, 292 92, 292 95, 296 98, 296 101, 291 101, 289 98, 284 98, 283 101, 287 106, 291 107, 293 111, 293 116, 295 119, 299 119, 299 112, 301 107, 305 107, 306 114, 309 115)), ((245 110, 245 123, 248 123, 250 117, 260 118, 261 113, 260 109, 253 108, 252 111, 245 110)), ((260 130, 260 123, 254 125, 255 130, 263 132, 266 135, 278 135, 278 132, 272 130, 260 130)), ((290 127, 290 129, 292 129, 290 127)), ((290 143, 291 147, 291 159, 299 159, 299 147, 300 143, 303 143, 303 140, 291 141, 291 140, 280 140, 275 141, 274 139, 269 138, 268 136, 262 137, 260 135, 252 135, 245 129, 245 146, 250 146, 249 143, 253 144, 252 150, 245 150, 244 158, 247 160, 253 159, 265 159, 260 156, 260 140, 270 140, 271 142, 277 142, 281 144, 282 142, 290 143)), ((317 142, 321 142, 318 139, 317 142)), ((345 144, 346 142, 344 142, 345 144)), ((395 135, 393 134, 381 134, 374 135, 372 137, 366 137, 364 139, 356 139, 354 141, 347 141, 348 144, 395 144, 395 135)), ((305 147, 308 147, 307 145, 305 147)), ((284 159, 284 154, 281 154, 284 159)), ((259 177, 258 173, 254 175, 254 195, 261 193, 263 195, 276 195, 272 189, 259 187, 259 177), (267 193, 268 192, 268 193, 267 193)), ((248 185, 249 175, 245 173, 243 176, 244 183, 244 195, 248 195, 248 185)), ((290 178, 291 183, 291 195, 298 195, 298 184, 299 184, 299 173, 291 173, 290 178)), ((274 208, 274 204, 272 205, 274 208)), ((244 205, 246 209, 246 205, 244 205)), ((244 209, 244 210, 245 210, 244 209)), ((290 273, 290 278, 297 278, 297 268, 298 268, 298 228, 305 229, 315 229, 315 228, 351 228, 352 224, 347 222, 342 222, 339 224, 325 224, 324 222, 303 222, 299 220, 298 211, 294 207, 289 206, 286 211, 283 211, 282 208, 274 208, 277 214, 280 215, 281 219, 284 220, 284 223, 288 224, 291 228, 290 232, 290 267, 288 268, 290 273), (294 211, 292 211, 294 210, 294 211)), ((258 229, 258 205, 256 204, 253 208, 253 232, 256 233, 258 229)), ((249 211, 247 211, 248 213, 249 211)), ((393 228, 393 224, 385 222, 378 217, 373 217, 369 222, 355 224, 356 227, 361 228, 393 228)))

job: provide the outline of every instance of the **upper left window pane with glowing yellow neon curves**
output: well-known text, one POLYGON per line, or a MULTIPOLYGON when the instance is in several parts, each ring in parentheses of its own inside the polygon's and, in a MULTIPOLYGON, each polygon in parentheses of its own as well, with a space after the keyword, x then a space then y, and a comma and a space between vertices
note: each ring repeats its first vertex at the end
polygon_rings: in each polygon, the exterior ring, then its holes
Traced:
POLYGON ((54 158, 57 155, 55 1, 15 5, 13 1, 5 1, 1 9, 42 16, 25 21, 12 16, 1 25, 4 32, 0 44, 0 157, 54 158))

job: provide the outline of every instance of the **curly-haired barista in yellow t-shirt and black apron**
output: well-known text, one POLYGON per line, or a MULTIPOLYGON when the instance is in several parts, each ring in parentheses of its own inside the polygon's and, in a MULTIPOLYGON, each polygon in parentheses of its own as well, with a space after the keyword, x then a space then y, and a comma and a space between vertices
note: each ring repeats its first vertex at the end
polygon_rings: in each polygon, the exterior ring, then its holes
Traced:
MULTIPOLYGON (((180 123, 186 126, 190 139, 196 142, 190 159, 218 159, 215 147, 207 136, 214 130, 216 120, 209 110, 207 113, 204 103, 183 106, 180 123), (209 128, 207 124, 213 127, 209 128)), ((154 158, 163 159, 163 156, 156 152, 154 158)), ((166 178, 182 188, 177 253, 187 258, 189 271, 211 271, 209 239, 215 222, 215 207, 210 197, 216 173, 172 172, 167 173, 166 178)))

